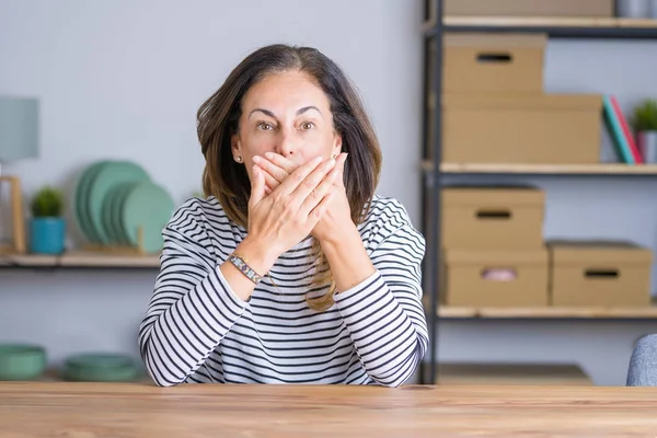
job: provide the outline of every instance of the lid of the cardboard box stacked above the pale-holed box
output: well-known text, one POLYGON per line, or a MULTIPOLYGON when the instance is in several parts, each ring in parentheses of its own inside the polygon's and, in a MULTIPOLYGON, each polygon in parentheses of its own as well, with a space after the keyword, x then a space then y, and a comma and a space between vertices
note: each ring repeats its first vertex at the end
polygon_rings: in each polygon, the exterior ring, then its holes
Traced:
POLYGON ((445 207, 542 207, 545 199, 542 189, 531 186, 452 186, 443 188, 441 196, 445 207))

